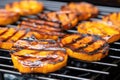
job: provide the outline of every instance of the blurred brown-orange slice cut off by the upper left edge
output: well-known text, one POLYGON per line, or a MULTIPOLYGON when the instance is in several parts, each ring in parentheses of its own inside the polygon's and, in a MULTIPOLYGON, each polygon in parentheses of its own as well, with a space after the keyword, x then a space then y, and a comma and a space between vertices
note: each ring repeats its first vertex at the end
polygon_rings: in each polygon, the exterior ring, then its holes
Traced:
POLYGON ((2 26, 16 22, 19 17, 20 15, 16 12, 0 9, 0 25, 2 26))

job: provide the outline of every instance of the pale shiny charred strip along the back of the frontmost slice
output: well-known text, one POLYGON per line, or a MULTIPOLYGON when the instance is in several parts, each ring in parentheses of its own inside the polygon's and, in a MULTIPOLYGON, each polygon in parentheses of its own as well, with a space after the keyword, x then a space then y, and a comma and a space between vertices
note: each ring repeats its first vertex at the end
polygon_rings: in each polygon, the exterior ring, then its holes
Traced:
POLYGON ((31 49, 31 50, 61 50, 65 51, 65 49, 61 48, 57 42, 49 41, 31 41, 31 40, 18 40, 14 43, 14 48, 22 48, 22 49, 31 49))

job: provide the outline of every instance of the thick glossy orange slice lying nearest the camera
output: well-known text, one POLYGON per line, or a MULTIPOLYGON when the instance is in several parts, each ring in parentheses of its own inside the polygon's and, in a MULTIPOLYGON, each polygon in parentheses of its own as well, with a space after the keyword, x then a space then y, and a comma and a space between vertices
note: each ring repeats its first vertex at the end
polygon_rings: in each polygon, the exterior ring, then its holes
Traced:
POLYGON ((21 73, 54 72, 67 63, 67 55, 63 51, 21 50, 11 54, 14 67, 21 73))

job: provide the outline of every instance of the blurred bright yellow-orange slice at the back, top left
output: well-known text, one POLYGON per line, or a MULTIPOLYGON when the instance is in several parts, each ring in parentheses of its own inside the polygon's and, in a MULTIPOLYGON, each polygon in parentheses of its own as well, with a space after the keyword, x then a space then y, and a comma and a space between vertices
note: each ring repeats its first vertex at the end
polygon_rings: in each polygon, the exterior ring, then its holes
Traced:
POLYGON ((37 14, 43 10, 43 3, 36 0, 22 0, 20 2, 8 3, 6 10, 17 12, 22 16, 37 14))

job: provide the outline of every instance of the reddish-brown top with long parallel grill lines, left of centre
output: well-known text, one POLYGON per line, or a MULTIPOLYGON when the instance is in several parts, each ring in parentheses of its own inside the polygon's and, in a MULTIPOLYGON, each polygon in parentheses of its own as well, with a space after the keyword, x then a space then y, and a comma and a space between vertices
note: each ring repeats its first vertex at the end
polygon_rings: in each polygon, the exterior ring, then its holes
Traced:
POLYGON ((50 35, 50 36, 63 36, 64 33, 59 25, 50 21, 37 20, 37 19, 27 19, 22 21, 18 27, 23 29, 31 29, 40 34, 50 35))

